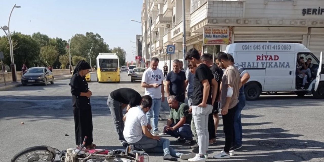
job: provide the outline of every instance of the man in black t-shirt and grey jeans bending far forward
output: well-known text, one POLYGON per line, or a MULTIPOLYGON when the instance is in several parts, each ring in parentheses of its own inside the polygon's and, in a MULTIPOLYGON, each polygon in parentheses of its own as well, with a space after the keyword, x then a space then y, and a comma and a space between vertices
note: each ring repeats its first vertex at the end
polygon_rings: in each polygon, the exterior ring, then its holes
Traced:
MULTIPOLYGON (((143 98, 145 98, 145 96, 143 96, 143 98)), ((124 121, 122 121, 122 110, 127 106, 127 113, 130 108, 140 105, 141 101, 141 95, 132 88, 119 88, 112 91, 108 96, 107 105, 110 109, 114 127, 119 136, 118 140, 123 146, 128 146, 129 144, 123 136, 124 121)))

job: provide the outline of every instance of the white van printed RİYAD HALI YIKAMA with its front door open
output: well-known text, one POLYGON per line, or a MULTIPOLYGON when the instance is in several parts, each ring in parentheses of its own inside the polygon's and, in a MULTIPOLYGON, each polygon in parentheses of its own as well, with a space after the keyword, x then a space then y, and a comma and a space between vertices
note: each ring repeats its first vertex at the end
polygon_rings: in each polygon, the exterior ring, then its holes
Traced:
POLYGON ((267 91, 292 91, 297 96, 313 94, 315 98, 324 98, 322 52, 318 59, 303 44, 258 42, 233 43, 227 45, 225 52, 233 55, 235 63, 241 64, 251 76, 244 87, 247 100, 255 100, 267 91), (303 78, 296 71, 301 57, 312 64, 311 77, 303 88, 303 78))

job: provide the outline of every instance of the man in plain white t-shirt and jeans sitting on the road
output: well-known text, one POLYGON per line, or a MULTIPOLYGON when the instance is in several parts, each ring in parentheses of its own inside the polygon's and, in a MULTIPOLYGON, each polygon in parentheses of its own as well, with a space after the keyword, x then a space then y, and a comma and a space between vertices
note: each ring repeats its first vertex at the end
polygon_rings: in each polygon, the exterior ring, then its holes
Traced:
POLYGON ((194 157, 195 153, 182 154, 173 150, 168 139, 154 136, 148 131, 148 128, 152 128, 147 124, 146 113, 152 106, 152 98, 148 95, 142 98, 141 105, 130 109, 123 117, 125 121, 124 138, 131 144, 131 148, 142 149, 145 152, 163 153, 163 159, 170 161, 177 161, 177 157, 182 160, 194 157))

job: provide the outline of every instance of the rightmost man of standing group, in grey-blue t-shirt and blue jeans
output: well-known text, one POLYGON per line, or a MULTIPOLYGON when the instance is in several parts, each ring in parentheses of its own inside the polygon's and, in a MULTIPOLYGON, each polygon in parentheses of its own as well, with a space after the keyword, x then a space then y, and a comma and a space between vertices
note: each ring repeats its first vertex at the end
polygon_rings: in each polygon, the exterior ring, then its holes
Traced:
POLYGON ((237 110, 235 111, 234 114, 234 141, 233 141, 234 145, 230 149, 230 150, 238 150, 242 148, 243 135, 242 135, 241 111, 245 106, 244 84, 248 82, 248 80, 250 79, 250 75, 242 65, 234 62, 234 58, 231 54, 227 54, 227 56, 229 61, 231 61, 231 64, 237 68, 242 83, 242 87, 240 88, 238 94, 239 102, 237 104, 237 110))

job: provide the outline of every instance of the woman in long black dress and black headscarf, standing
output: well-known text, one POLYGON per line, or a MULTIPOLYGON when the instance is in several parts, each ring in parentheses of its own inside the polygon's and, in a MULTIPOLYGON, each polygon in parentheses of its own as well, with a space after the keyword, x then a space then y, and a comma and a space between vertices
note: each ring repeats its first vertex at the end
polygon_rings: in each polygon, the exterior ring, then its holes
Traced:
POLYGON ((88 88, 85 75, 89 73, 90 65, 81 60, 75 66, 70 86, 72 93, 72 107, 75 123, 75 143, 81 145, 85 136, 87 136, 86 147, 94 148, 92 143, 92 112, 90 96, 92 92, 88 88))

